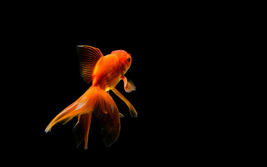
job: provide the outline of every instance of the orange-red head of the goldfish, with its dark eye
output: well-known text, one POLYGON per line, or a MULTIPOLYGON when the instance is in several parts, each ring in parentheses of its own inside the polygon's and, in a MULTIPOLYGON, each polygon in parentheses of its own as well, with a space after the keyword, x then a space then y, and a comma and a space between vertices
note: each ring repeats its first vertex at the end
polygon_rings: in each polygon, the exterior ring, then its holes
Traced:
POLYGON ((131 66, 131 54, 128 54, 127 51, 124 50, 115 50, 112 51, 111 54, 115 54, 116 56, 118 56, 120 66, 122 68, 123 73, 125 74, 131 66))

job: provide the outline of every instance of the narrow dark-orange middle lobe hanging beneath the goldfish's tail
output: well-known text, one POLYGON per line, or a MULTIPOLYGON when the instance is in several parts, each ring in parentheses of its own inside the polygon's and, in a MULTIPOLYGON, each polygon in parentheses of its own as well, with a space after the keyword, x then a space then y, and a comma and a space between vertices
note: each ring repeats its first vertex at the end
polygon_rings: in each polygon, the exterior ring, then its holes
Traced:
POLYGON ((78 122, 73 127, 73 133, 76 139, 77 148, 84 140, 84 149, 88 148, 88 134, 90 129, 92 113, 86 113, 81 116, 78 116, 78 122))

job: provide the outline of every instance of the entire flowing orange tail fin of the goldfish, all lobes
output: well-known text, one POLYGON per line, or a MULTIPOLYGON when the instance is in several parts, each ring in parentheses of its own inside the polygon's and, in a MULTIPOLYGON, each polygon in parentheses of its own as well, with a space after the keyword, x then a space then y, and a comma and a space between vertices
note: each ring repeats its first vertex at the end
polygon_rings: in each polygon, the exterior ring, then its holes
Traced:
POLYGON ((81 141, 85 142, 87 149, 88 132, 90 129, 90 120, 92 113, 95 113, 99 126, 102 129, 102 135, 106 146, 112 145, 120 135, 120 114, 113 98, 106 91, 98 87, 90 87, 86 93, 79 97, 76 102, 67 106, 56 116, 45 132, 50 132, 51 128, 57 123, 67 123, 69 120, 78 116, 78 122, 74 126, 74 135, 76 136, 77 146, 81 141))

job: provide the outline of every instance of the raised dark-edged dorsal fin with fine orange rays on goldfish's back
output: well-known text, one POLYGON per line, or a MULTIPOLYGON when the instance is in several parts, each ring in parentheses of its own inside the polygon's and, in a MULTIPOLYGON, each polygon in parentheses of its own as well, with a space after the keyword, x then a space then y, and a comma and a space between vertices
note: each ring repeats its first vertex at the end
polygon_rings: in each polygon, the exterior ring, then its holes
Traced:
POLYGON ((83 77, 83 81, 89 84, 92 81, 92 72, 95 65, 103 57, 103 54, 99 49, 87 45, 78 45, 77 54, 80 61, 81 77, 83 77))

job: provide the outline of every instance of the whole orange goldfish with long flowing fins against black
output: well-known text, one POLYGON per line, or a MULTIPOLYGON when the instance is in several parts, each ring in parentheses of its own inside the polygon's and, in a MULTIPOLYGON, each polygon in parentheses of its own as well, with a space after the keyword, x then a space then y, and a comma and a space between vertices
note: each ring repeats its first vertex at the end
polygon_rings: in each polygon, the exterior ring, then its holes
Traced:
POLYGON ((76 144, 78 147, 84 140, 84 149, 87 149, 90 122, 92 113, 95 113, 102 130, 104 143, 106 146, 110 146, 119 137, 120 118, 124 116, 119 113, 118 107, 108 91, 112 90, 115 95, 118 95, 129 106, 131 116, 137 117, 133 105, 115 89, 115 86, 122 79, 124 90, 127 93, 136 90, 133 82, 127 80, 124 76, 131 66, 131 54, 124 50, 116 50, 103 56, 99 49, 86 45, 77 46, 77 52, 81 76, 87 84, 92 81, 92 86, 78 100, 67 106, 51 120, 45 132, 50 132, 51 128, 57 123, 65 124, 76 116, 78 122, 73 127, 76 144))

